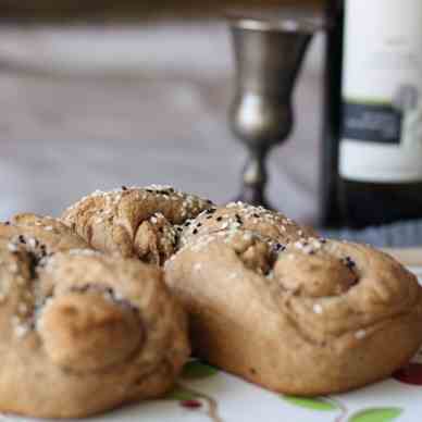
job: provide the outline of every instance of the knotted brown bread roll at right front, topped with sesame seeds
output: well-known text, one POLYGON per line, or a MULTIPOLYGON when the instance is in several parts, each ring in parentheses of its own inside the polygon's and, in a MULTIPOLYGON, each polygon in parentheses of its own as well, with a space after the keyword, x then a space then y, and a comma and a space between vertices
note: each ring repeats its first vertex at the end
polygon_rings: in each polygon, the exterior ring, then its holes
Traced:
POLYGON ((308 237, 274 248, 276 228, 258 226, 189 234, 165 263, 199 357, 305 396, 382 380, 412 357, 422 343, 414 275, 362 245, 308 237))

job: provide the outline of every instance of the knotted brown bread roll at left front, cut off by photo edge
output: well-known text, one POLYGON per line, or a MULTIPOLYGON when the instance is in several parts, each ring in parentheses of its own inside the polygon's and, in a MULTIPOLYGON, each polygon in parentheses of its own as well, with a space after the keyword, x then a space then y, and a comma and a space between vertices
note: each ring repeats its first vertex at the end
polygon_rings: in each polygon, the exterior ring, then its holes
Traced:
POLYGON ((87 417, 171 388, 190 349, 162 271, 53 219, 14 222, 0 224, 0 411, 87 417))

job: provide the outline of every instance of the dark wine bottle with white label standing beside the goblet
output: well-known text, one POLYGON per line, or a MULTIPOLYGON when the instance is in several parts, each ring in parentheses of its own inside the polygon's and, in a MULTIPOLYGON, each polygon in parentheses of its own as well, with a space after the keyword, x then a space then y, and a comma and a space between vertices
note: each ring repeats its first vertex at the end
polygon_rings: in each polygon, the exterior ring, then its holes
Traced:
POLYGON ((422 1, 332 1, 330 14, 323 223, 422 218, 422 1))

